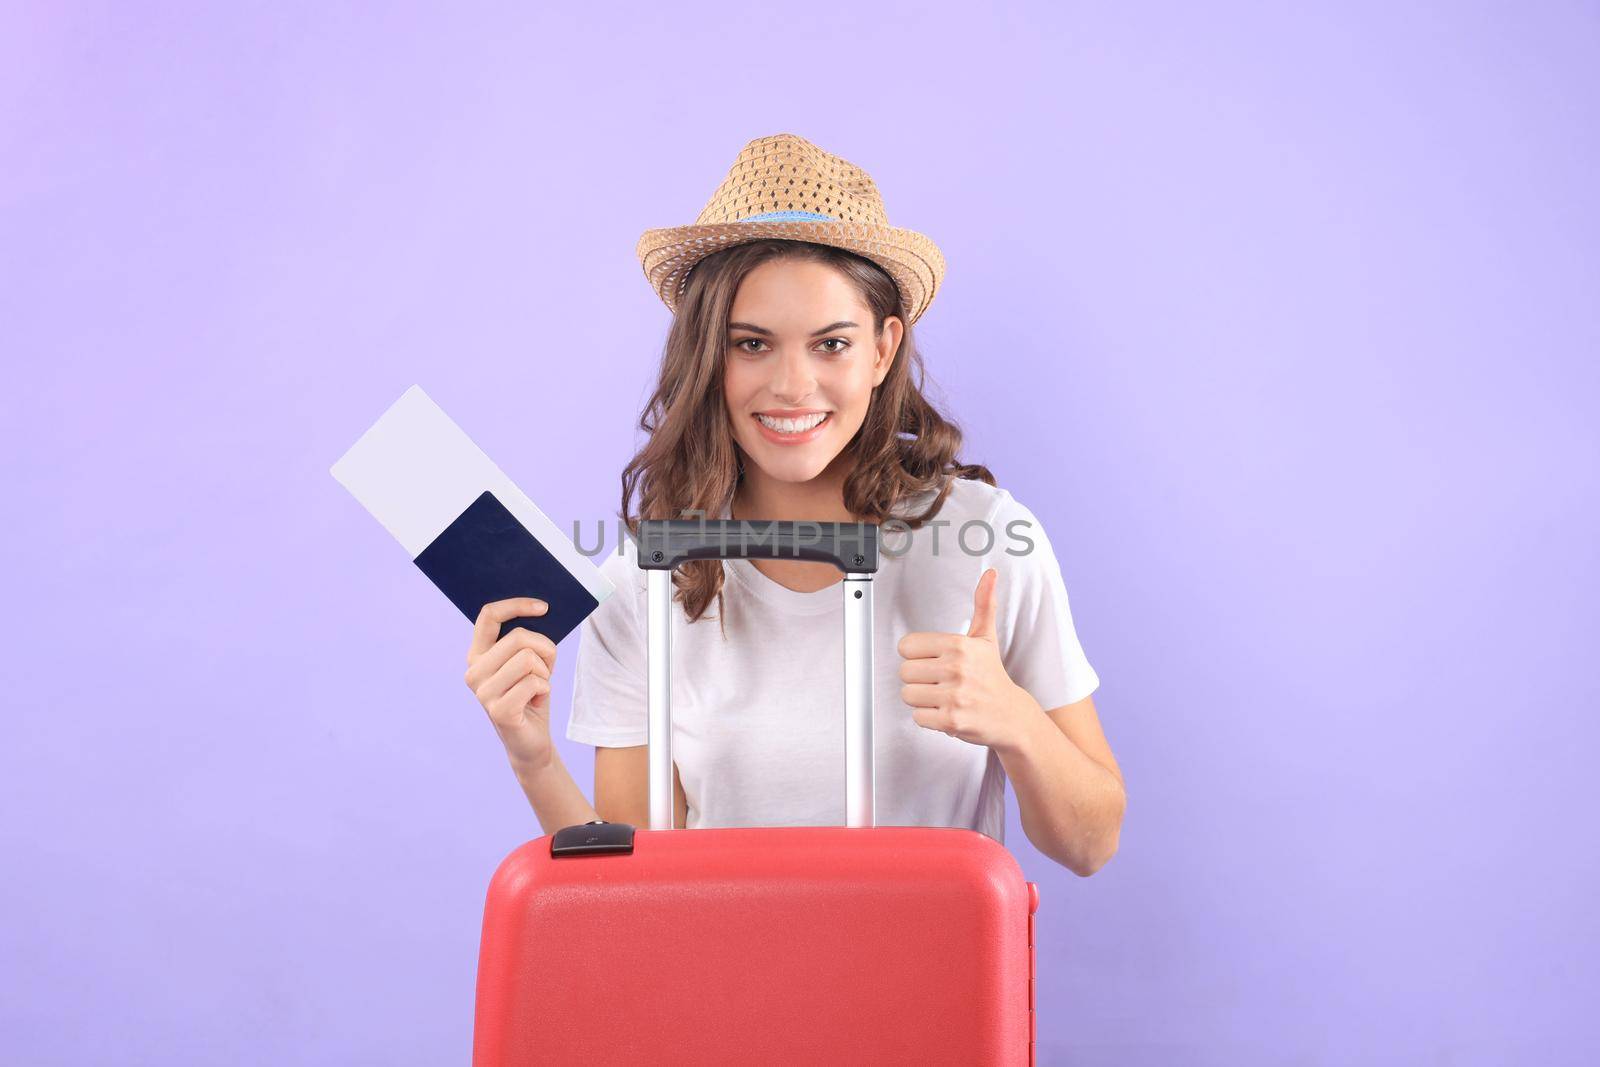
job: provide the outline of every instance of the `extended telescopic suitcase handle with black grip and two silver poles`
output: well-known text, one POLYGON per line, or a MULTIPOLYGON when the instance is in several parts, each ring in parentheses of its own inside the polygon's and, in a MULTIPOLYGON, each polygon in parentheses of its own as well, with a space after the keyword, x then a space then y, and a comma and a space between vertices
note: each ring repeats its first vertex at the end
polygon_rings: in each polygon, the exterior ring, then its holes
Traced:
POLYGON ((650 827, 672 829, 672 571, 690 560, 811 560, 845 573, 845 821, 872 811, 872 576, 877 523, 646 518, 635 537, 650 571, 650 827))

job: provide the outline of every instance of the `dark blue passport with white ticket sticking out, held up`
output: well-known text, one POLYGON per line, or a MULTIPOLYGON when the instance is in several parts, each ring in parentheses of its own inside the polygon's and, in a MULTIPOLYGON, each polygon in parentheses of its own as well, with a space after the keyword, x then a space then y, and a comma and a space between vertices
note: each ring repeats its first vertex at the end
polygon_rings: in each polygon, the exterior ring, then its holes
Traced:
POLYGON ((434 585, 477 621, 483 605, 536 597, 510 619, 560 641, 613 585, 419 386, 411 386, 331 467, 434 585))

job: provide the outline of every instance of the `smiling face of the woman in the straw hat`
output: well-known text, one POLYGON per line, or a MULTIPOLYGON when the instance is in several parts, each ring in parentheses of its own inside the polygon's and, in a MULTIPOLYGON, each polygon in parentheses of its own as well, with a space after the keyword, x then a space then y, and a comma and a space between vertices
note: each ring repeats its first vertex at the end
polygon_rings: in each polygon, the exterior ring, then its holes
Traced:
POLYGON ((867 418, 890 373, 901 320, 872 336, 872 309, 834 267, 768 259, 739 283, 728 315, 723 395, 733 437, 763 474, 810 482, 867 418))

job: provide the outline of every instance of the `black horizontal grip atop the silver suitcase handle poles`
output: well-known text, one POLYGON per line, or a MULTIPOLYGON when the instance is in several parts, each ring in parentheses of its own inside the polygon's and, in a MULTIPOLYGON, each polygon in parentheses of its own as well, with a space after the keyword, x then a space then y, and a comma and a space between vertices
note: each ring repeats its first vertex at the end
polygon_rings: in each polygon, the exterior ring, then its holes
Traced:
POLYGON ((877 523, 779 518, 646 518, 638 523, 638 566, 670 571, 690 560, 813 560, 846 574, 878 569, 877 523))

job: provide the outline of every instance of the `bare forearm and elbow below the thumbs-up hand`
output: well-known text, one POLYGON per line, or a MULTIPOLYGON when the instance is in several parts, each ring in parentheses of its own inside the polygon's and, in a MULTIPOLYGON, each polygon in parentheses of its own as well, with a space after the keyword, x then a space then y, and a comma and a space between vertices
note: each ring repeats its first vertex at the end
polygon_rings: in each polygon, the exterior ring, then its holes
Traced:
POLYGON ((1117 854, 1128 803, 1122 769, 1101 731, 1094 697, 1051 712, 1018 689, 1038 713, 1024 713, 1010 739, 990 745, 1016 789, 1022 832, 1077 875, 1090 877, 1117 854))

